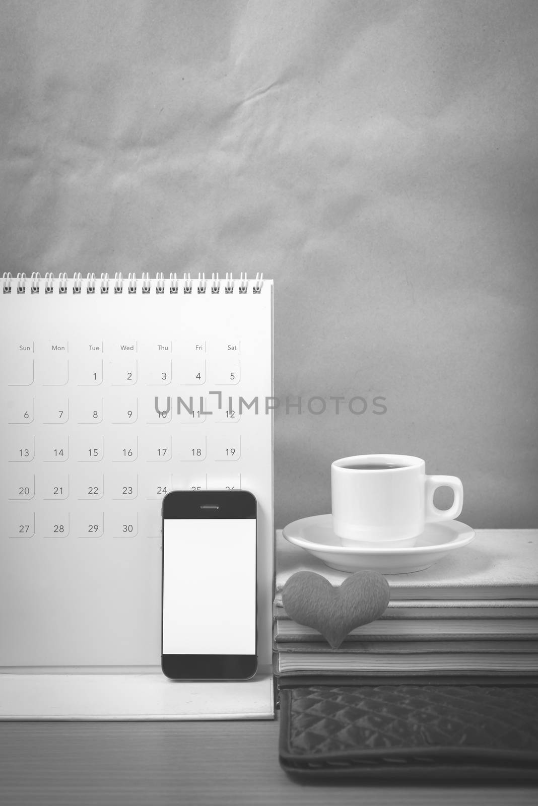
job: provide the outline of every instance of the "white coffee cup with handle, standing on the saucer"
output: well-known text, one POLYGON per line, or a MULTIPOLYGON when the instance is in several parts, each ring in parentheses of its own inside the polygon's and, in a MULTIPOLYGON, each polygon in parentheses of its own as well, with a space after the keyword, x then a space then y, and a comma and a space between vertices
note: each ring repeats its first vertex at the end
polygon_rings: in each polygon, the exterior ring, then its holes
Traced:
POLYGON ((333 531, 342 546, 413 546, 424 524, 449 521, 461 513, 463 485, 457 476, 427 476, 424 459, 367 454, 331 465, 333 531), (449 509, 437 509, 433 493, 453 489, 449 509))

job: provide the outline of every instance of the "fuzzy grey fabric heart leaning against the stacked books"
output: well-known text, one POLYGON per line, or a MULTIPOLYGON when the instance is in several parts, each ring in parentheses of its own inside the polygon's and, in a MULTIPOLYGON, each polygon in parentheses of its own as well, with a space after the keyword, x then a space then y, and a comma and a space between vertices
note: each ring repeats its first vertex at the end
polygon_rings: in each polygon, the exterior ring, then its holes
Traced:
POLYGON ((377 571, 357 571, 339 588, 313 571, 297 571, 282 589, 288 616, 317 629, 334 650, 352 629, 379 618, 390 598, 387 580, 377 571))

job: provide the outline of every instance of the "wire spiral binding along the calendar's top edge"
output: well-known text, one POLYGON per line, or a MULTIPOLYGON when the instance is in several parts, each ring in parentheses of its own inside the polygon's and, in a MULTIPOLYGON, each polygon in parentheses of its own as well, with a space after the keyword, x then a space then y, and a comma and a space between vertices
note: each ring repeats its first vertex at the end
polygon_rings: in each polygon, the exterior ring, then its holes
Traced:
MULTIPOLYGON (((46 272, 43 277, 43 290, 45 294, 52 294, 54 292, 54 280, 54 274, 52 272, 46 272)), ((169 293, 180 293, 181 282, 183 283, 182 290, 184 294, 231 294, 234 293, 236 289, 237 293, 240 294, 248 293, 249 289, 251 289, 252 293, 259 294, 263 288, 263 272, 258 272, 255 280, 249 280, 245 272, 241 272, 238 280, 234 280, 231 272, 226 272, 226 279, 224 280, 221 280, 217 273, 211 275, 211 280, 206 280, 204 273, 198 274, 197 280, 192 280, 188 272, 184 273, 183 280, 178 279, 176 273, 171 273, 168 289, 169 293)), ((166 280, 164 280, 163 272, 158 272, 155 280, 151 280, 149 272, 142 273, 140 288, 143 294, 151 293, 152 283, 155 286, 155 293, 165 293, 166 280)), ((39 294, 41 289, 41 275, 39 272, 32 272, 31 277, 27 277, 24 272, 19 272, 16 277, 12 276, 11 272, 4 272, 2 275, 2 293, 4 294, 10 294, 12 289, 16 290, 18 294, 26 293, 27 284, 30 293, 39 294)), ((66 272, 60 272, 58 275, 57 288, 60 294, 68 293, 68 276, 66 272)), ((86 276, 86 293, 88 294, 122 294, 124 291, 130 294, 137 293, 136 274, 130 272, 125 279, 122 272, 116 272, 114 278, 110 278, 107 273, 102 273, 100 277, 97 277, 92 272, 86 276)), ((75 272, 72 280, 72 293, 80 294, 81 292, 82 275, 81 272, 75 272)))

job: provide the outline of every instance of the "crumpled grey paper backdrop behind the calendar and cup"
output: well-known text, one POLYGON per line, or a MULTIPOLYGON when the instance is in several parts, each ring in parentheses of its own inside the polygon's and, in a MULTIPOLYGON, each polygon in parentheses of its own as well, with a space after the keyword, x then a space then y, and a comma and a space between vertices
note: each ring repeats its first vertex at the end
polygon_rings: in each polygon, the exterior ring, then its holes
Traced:
POLYGON ((274 278, 276 526, 370 451, 536 526, 537 85, 536 2, 4 0, 2 271, 274 278))

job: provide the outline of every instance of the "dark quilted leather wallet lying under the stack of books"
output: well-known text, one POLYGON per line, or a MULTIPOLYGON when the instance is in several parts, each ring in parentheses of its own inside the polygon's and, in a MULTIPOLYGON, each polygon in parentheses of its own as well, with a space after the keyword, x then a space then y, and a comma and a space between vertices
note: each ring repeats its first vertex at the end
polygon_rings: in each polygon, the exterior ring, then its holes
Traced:
POLYGON ((538 780, 536 686, 304 686, 280 709, 290 775, 538 780))

